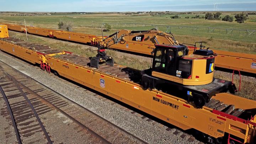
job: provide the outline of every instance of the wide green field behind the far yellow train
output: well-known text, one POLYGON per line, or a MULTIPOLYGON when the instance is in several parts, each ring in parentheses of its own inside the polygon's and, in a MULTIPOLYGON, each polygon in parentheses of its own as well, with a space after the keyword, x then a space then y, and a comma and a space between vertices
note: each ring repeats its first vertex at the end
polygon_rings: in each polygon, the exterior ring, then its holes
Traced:
MULTIPOLYGON (((230 12, 230 16, 234 17, 234 15, 231 14, 232 12, 230 12)), ((112 30, 104 32, 104 35, 112 34, 119 29, 148 30, 157 28, 165 32, 165 26, 173 26, 171 27, 171 32, 180 43, 201 41, 204 42, 207 47, 213 49, 256 54, 256 32, 249 35, 247 31, 226 30, 226 28, 256 30, 256 15, 249 15, 245 23, 205 20, 202 18, 185 18, 186 16, 193 17, 195 15, 196 14, 180 14, 179 17, 181 18, 172 19, 170 17, 174 15, 77 14, 11 16, 8 13, 1 13, 0 22, 23 24, 25 19, 26 23, 31 26, 58 29, 57 24, 60 20, 71 21, 73 23, 74 32, 98 35, 101 35, 101 23, 111 23, 110 25, 112 26, 112 30)), ((205 14, 197 15, 204 16, 205 14)), ((221 15, 221 17, 225 15, 226 14, 221 15)))

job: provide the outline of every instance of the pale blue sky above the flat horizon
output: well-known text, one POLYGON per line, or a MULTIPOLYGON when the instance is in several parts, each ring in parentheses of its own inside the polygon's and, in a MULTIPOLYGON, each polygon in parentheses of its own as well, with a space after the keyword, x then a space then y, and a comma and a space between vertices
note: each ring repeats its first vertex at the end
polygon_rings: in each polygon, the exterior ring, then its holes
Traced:
POLYGON ((0 0, 0 11, 256 11, 255 0, 0 0))

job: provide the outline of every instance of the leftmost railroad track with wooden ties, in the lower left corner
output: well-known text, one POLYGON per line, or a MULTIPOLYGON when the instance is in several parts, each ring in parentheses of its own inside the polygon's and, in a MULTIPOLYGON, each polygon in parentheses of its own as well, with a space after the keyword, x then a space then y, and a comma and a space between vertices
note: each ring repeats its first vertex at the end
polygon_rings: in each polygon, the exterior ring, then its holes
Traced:
MULTIPOLYGON (((21 86, 14 77, 7 74, 1 66, 0 75, 0 91, 10 114, 18 143, 21 144, 22 141, 25 141, 23 139, 24 137, 29 137, 31 135, 34 135, 34 138, 36 139, 41 136, 38 141, 42 141, 43 137, 41 132, 43 132, 46 142, 51 144, 52 141, 38 116, 38 113, 41 112, 42 114, 43 112, 46 112, 47 109, 36 112, 36 110, 42 108, 42 105, 37 101, 38 99, 33 98, 29 100, 27 95, 30 95, 31 93, 24 90, 25 87, 21 86)), ((8 117, 6 112, 7 111, 4 111, 4 108, 1 109, 1 115, 8 117)))

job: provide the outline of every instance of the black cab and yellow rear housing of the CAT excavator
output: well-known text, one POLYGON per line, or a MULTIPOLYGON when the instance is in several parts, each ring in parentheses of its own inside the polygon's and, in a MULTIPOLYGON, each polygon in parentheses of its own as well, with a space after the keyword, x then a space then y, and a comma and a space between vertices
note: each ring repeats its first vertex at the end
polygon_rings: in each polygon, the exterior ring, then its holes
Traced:
POLYGON ((215 56, 212 50, 188 55, 184 45, 156 45, 152 75, 182 85, 204 85, 213 81, 215 56))

